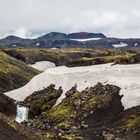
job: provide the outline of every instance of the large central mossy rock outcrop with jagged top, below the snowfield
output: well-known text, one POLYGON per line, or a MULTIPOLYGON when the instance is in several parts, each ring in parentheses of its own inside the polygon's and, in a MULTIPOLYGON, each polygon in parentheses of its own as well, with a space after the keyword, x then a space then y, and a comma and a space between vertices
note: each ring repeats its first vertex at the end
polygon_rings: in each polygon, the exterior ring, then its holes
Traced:
POLYGON ((98 139, 102 128, 123 110, 119 90, 117 86, 98 83, 78 92, 75 86, 59 105, 26 125, 41 132, 46 139, 98 139), (98 127, 100 131, 94 131, 98 127))

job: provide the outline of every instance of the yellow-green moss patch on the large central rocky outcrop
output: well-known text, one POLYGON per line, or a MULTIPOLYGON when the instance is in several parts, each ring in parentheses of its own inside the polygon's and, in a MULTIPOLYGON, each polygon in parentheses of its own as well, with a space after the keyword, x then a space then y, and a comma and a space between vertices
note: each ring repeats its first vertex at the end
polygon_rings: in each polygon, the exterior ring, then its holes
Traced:
POLYGON ((70 115, 73 116, 76 113, 77 117, 81 117, 84 111, 93 110, 102 106, 101 99, 94 94, 91 94, 83 103, 81 102, 80 96, 80 92, 77 91, 70 97, 63 99, 58 106, 45 113, 46 118, 57 126, 68 126, 73 124, 72 120, 69 119, 70 115), (79 111, 78 106, 81 106, 80 108, 82 110, 79 111))

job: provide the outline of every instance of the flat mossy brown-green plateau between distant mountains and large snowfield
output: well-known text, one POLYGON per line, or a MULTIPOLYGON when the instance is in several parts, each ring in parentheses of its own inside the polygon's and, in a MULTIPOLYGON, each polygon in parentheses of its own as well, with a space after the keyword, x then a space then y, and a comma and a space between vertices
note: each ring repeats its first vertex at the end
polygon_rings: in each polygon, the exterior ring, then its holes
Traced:
POLYGON ((21 59, 26 63, 36 61, 51 61, 57 66, 87 66, 93 64, 103 64, 109 62, 121 61, 128 63, 131 56, 136 54, 130 50, 115 49, 94 49, 94 48, 67 48, 67 49, 24 49, 14 48, 5 49, 6 53, 21 59))

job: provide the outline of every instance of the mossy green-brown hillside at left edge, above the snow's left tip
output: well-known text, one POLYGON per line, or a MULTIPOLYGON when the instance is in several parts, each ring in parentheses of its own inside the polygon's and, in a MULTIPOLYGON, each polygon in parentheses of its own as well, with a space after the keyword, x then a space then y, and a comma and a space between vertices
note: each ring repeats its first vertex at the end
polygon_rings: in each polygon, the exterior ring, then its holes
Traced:
POLYGON ((39 71, 0 50, 0 93, 25 85, 39 71))

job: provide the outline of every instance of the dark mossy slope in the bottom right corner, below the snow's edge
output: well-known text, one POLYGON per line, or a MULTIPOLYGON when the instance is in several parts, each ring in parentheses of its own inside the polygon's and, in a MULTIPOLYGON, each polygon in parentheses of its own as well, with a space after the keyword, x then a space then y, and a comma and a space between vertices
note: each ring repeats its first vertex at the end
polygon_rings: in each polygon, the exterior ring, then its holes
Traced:
POLYGON ((103 132, 105 140, 138 140, 140 137, 140 106, 123 111, 114 123, 103 132))

